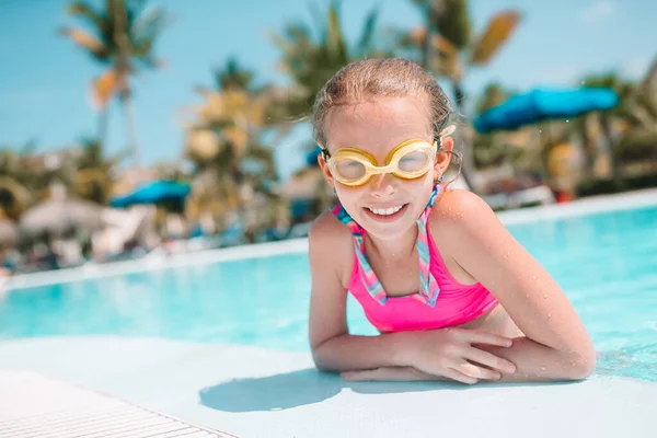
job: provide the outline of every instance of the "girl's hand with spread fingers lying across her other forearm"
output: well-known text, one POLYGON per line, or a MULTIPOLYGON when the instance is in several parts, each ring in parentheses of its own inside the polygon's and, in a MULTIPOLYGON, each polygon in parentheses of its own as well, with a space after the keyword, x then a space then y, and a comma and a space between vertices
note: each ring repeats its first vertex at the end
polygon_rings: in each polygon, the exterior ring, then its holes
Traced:
POLYGON ((516 372, 510 361, 476 347, 477 344, 510 347, 514 342, 508 337, 456 327, 408 332, 408 335, 403 361, 424 374, 472 384, 481 379, 499 380, 503 372, 516 372))

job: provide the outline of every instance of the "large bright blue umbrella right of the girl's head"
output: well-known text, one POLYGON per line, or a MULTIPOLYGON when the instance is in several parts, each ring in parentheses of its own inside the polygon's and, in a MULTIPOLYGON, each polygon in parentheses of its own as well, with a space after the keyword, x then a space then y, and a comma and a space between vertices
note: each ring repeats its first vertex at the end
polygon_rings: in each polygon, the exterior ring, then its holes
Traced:
POLYGON ((516 129, 554 118, 575 117, 591 111, 610 110, 619 104, 611 89, 585 87, 576 90, 532 90, 508 99, 485 111, 474 120, 481 134, 516 129))

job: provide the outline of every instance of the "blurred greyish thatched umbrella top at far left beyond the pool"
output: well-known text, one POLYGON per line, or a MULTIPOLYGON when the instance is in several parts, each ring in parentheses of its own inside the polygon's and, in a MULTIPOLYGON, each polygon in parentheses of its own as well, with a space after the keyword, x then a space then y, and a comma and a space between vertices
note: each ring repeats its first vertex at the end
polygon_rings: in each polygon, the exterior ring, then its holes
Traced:
POLYGON ((27 238, 61 237, 74 231, 91 233, 104 227, 102 207, 83 200, 49 199, 21 216, 21 232, 27 238))

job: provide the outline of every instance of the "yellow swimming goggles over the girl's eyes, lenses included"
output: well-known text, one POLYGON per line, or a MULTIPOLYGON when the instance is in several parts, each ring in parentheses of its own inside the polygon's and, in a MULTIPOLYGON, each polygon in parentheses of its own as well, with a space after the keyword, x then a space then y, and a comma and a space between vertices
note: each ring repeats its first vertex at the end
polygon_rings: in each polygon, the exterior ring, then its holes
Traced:
POLYGON ((377 165, 371 154, 356 148, 341 148, 333 155, 322 149, 322 153, 335 180, 344 185, 358 186, 380 173, 392 173, 403 180, 418 178, 434 165, 437 148, 436 141, 430 145, 420 139, 406 140, 388 154, 385 165, 377 165))

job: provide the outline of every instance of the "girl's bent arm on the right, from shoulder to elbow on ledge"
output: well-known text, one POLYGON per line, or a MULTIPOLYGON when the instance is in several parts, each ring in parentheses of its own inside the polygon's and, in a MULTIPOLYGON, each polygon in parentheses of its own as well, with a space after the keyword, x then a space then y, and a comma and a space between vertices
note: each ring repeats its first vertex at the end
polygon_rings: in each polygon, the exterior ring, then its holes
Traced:
POLYGON ((439 205, 434 223, 443 252, 497 297, 527 336, 515 339, 510 348, 482 346, 516 364, 516 373, 503 380, 589 376, 596 366, 591 339, 565 293, 539 262, 479 196, 447 192, 439 205))

